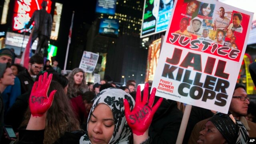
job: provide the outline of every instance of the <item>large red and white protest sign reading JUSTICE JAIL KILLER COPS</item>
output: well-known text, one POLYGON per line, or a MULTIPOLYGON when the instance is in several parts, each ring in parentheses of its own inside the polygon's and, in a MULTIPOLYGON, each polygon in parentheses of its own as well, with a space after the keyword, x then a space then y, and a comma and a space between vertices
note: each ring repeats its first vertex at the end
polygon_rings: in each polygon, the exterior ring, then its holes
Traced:
POLYGON ((177 0, 152 87, 156 95, 227 113, 252 12, 209 0, 177 0))

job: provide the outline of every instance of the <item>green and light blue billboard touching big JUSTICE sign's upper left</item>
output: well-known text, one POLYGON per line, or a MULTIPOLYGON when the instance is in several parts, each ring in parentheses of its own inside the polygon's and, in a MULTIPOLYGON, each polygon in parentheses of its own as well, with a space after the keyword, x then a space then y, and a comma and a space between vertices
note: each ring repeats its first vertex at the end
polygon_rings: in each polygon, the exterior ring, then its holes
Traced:
POLYGON ((140 38, 167 29, 174 0, 145 0, 140 38))

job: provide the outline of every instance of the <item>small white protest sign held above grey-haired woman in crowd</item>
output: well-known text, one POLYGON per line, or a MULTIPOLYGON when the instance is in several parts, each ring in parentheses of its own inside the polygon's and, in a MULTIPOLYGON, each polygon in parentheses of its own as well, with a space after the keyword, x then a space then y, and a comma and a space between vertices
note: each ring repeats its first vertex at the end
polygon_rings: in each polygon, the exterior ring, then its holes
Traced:
POLYGON ((92 73, 98 62, 98 58, 99 54, 84 51, 79 68, 82 68, 84 72, 92 73))

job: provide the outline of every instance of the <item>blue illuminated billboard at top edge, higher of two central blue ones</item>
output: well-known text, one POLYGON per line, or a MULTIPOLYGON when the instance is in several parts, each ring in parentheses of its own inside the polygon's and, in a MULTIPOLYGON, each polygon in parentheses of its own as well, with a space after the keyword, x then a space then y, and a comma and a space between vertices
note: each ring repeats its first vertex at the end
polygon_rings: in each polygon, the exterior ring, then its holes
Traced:
POLYGON ((116 12, 116 0, 97 0, 96 12, 114 15, 116 12))

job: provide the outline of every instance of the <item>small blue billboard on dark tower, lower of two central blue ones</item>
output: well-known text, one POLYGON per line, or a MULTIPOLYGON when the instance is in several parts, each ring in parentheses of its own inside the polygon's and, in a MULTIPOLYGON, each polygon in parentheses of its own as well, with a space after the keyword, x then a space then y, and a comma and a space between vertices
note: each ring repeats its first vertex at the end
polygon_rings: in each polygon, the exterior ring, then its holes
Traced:
POLYGON ((119 22, 116 19, 102 18, 100 20, 100 34, 118 35, 119 22))

